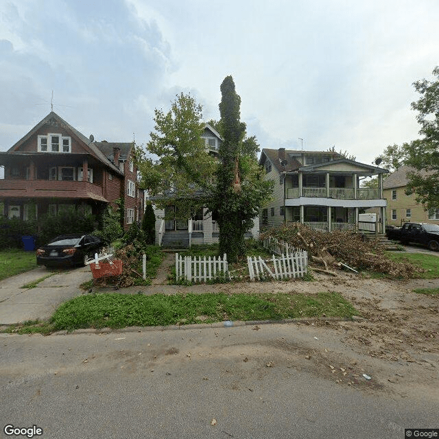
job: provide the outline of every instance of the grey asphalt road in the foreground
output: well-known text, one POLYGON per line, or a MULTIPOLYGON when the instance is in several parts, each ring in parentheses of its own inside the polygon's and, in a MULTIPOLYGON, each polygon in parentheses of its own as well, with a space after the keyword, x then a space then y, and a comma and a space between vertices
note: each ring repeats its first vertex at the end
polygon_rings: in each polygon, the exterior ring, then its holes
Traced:
POLYGON ((439 427, 439 392, 388 392, 361 355, 372 379, 337 383, 318 345, 343 355, 323 329, 294 324, 0 334, 1 428, 37 425, 57 439, 401 439, 404 428, 439 427))

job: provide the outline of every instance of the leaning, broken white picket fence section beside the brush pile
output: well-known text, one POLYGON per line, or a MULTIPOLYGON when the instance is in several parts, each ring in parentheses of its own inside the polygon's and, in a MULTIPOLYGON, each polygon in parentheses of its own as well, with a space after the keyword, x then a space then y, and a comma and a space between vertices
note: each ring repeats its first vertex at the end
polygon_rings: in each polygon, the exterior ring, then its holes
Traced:
POLYGON ((299 250, 287 255, 282 254, 281 257, 273 254, 272 259, 265 261, 261 257, 247 257, 247 263, 250 281, 260 281, 267 276, 274 279, 303 277, 308 272, 308 253, 299 250), (272 268, 267 263, 270 263, 272 268))

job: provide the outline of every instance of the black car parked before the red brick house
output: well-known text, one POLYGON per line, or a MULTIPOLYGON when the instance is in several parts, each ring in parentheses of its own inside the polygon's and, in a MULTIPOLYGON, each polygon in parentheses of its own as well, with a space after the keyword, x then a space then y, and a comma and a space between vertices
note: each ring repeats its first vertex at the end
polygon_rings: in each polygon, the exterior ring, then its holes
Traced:
POLYGON ((102 241, 93 235, 60 235, 36 250, 38 265, 84 265, 102 249, 102 241))

